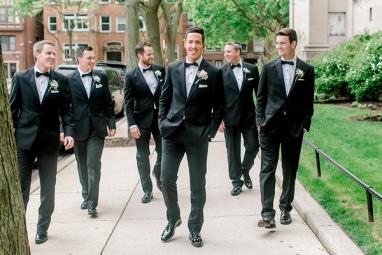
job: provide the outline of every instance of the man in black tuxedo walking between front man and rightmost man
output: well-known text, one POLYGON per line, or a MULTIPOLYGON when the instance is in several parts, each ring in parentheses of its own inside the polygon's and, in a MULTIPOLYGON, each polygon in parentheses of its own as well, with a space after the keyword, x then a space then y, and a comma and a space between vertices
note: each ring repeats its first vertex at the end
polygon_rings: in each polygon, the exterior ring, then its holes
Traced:
POLYGON ((227 61, 222 67, 224 85, 224 118, 219 127, 224 132, 227 147, 229 177, 232 181, 231 195, 242 191, 243 183, 248 189, 253 184, 249 171, 259 151, 259 138, 256 129, 256 110, 253 95, 257 92, 259 72, 255 65, 240 58, 241 45, 228 42, 224 46, 227 61), (241 161, 241 136, 245 153, 241 161), (241 176, 244 176, 244 181, 241 176))

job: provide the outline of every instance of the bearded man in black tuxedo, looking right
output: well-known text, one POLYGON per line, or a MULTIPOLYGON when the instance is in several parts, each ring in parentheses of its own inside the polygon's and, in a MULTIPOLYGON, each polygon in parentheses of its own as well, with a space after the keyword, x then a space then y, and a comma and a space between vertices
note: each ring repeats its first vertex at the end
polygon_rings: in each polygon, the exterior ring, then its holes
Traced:
POLYGON ((153 135, 157 161, 153 174, 161 190, 160 174, 162 159, 162 138, 158 128, 159 96, 164 83, 163 66, 154 65, 154 51, 150 43, 140 42, 135 46, 138 66, 125 77, 125 105, 131 136, 137 146, 137 167, 144 192, 142 203, 153 198, 150 178, 150 137, 153 135))

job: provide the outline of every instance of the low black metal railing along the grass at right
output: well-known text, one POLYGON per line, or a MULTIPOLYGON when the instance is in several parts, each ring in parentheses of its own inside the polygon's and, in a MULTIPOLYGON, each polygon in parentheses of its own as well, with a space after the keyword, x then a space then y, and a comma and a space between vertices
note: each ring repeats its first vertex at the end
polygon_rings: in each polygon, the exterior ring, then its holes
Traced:
POLYGON ((373 212, 373 196, 377 198, 379 201, 382 202, 382 195, 378 193, 376 190, 374 190, 369 184, 365 183, 363 180, 355 176, 353 173, 351 173, 349 170, 347 170, 345 167, 341 166, 338 162, 336 162, 334 159, 332 159, 328 154, 320 150, 316 145, 308 141, 304 138, 304 143, 309 145, 314 149, 314 153, 316 155, 316 167, 317 167, 317 176, 321 177, 321 163, 320 163, 320 156, 325 158, 328 162, 330 162, 332 165, 334 165, 337 169, 339 169, 341 172, 345 173, 347 176, 349 176, 354 182, 356 182, 359 186, 361 186, 366 191, 366 199, 367 199, 367 212, 368 212, 368 218, 369 222, 374 222, 374 212, 373 212))

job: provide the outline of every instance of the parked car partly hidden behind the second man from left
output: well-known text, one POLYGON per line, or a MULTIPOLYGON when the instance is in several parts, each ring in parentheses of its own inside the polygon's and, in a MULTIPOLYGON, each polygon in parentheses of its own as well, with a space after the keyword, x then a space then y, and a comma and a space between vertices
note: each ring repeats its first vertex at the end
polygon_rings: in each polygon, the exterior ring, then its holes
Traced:
MULTIPOLYGON (((77 65, 74 64, 62 64, 57 66, 56 71, 68 76, 75 70, 77 70, 77 65)), ((121 75, 114 68, 110 68, 108 66, 95 66, 94 70, 103 72, 106 74, 107 79, 109 80, 109 89, 111 93, 111 97, 113 99, 114 105, 114 114, 116 117, 124 116, 124 97, 122 90, 122 81, 121 75)))

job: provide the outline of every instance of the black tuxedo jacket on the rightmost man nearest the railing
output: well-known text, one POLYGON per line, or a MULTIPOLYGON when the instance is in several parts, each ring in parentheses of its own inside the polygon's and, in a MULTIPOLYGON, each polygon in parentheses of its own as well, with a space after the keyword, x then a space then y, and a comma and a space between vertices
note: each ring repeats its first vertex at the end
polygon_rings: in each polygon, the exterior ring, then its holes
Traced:
POLYGON ((295 74, 286 95, 281 59, 266 63, 260 76, 256 104, 256 124, 265 130, 275 130, 281 118, 286 118, 290 133, 297 137, 303 128, 309 131, 313 115, 314 68, 297 58, 295 74))

